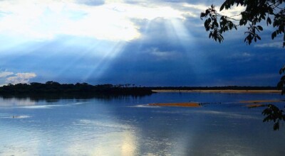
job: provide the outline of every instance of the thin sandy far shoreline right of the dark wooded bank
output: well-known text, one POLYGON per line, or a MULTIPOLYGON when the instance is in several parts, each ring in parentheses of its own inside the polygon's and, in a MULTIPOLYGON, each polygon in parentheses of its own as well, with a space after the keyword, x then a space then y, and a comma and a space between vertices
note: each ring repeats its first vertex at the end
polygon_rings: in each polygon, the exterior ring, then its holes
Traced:
POLYGON ((152 90, 157 93, 234 93, 234 94, 253 94, 253 93, 264 93, 264 94, 281 94, 281 90, 234 90, 234 89, 195 89, 195 90, 177 90, 177 89, 155 89, 152 90))

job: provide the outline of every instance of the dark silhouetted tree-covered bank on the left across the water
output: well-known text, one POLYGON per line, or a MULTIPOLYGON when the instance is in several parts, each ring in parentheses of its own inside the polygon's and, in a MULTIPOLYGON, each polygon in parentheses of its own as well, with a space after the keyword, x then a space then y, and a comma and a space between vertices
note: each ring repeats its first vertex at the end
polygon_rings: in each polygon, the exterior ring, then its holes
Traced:
POLYGON ((87 83, 59 84, 58 82, 49 81, 45 84, 38 82, 32 82, 31 84, 8 84, 0 87, 0 94, 96 94, 144 96, 152 94, 152 90, 146 87, 135 87, 135 85, 131 87, 130 84, 99 84, 93 86, 87 83))

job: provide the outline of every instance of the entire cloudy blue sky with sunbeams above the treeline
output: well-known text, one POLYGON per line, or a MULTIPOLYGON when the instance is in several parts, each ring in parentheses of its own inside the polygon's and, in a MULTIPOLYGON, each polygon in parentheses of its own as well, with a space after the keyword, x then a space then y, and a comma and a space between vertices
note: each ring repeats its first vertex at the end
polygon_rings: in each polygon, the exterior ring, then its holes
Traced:
MULTIPOLYGON (((222 1, 1 0, 0 85, 276 86, 282 36, 208 38, 199 14, 222 1)), ((224 11, 235 15, 242 7, 224 11)))

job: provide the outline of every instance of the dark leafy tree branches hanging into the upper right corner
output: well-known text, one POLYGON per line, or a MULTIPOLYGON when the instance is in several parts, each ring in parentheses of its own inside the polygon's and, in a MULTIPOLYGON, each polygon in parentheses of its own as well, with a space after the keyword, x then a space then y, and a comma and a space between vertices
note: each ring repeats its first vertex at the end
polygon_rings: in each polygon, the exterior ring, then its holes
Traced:
POLYGON ((206 18, 204 21, 204 28, 209 31, 209 38, 221 43, 224 38, 222 34, 226 31, 235 29, 238 26, 247 26, 247 31, 244 32, 247 37, 244 42, 251 44, 252 41, 257 42, 261 40, 259 32, 263 30, 259 23, 266 21, 267 26, 271 25, 276 28, 271 34, 271 38, 276 38, 277 35, 284 35, 283 47, 285 46, 285 0, 226 0, 220 7, 219 11, 231 9, 232 6, 244 6, 245 10, 238 15, 225 16, 215 9, 214 5, 210 6, 205 12, 202 12, 201 19, 206 18), (241 16, 237 19, 235 17, 241 16), (236 21, 236 22, 234 22, 236 21))

